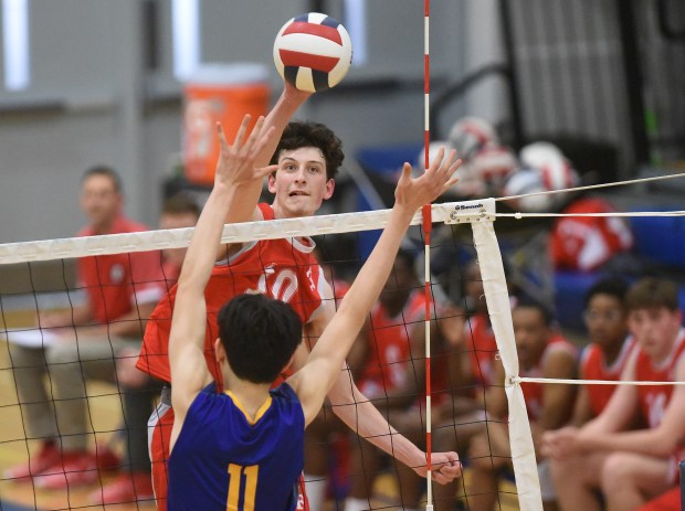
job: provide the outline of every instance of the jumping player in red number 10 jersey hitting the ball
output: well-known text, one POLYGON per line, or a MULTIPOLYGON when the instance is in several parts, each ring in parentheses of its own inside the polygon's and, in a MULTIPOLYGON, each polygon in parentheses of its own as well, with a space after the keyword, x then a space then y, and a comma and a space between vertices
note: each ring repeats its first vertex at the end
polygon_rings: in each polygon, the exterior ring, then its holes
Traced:
MULTIPOLYGON (((273 127, 276 135, 283 131, 287 118, 307 96, 286 84, 280 102, 266 118, 265 129, 273 127)), ((342 160, 342 151, 340 141, 327 127, 314 123, 291 123, 281 140, 277 136, 273 138, 275 142, 266 145, 255 161, 257 167, 264 166, 273 155, 272 161, 277 164, 277 170, 268 177, 268 191, 274 194, 273 204, 255 209, 254 204, 262 191, 261 181, 255 180, 250 187, 245 187, 244 193, 241 193, 242 200, 236 201, 235 206, 232 205, 226 223, 309 216, 316 213, 324 200, 333 195, 335 188, 333 178, 342 160)), ((219 166, 226 163, 228 147, 225 138, 222 137, 219 166)), ((236 295, 249 289, 265 290, 271 296, 289 299, 289 304, 305 319, 305 333, 314 340, 335 313, 334 300, 330 299, 333 294, 320 274, 316 259, 310 255, 314 248, 310 239, 296 238, 282 241, 280 244, 281 247, 277 249, 270 248, 275 245, 266 242, 223 248, 222 254, 226 260, 223 262, 223 266, 220 263, 220 266, 214 268, 210 278, 209 287, 217 289, 217 292, 211 291, 207 295, 208 311, 220 307, 226 294, 236 295), (235 264, 240 266, 235 267, 235 264), (224 279, 223 286, 217 284, 221 278, 224 279), (224 289, 219 290, 219 287, 224 289), (219 297, 222 302, 214 304, 219 297)), ((165 366, 168 366, 166 360, 168 336, 164 330, 165 324, 168 330, 172 296, 173 292, 167 301, 160 304, 150 329, 146 332, 138 368, 151 374, 164 375, 165 366)), ((302 363, 304 354, 303 349, 298 350, 295 368, 302 363)), ((214 359, 208 355, 207 360, 209 369, 215 376, 217 369, 215 366, 212 369, 214 359)), ((413 467, 418 473, 425 475, 425 453, 401 435, 394 434, 394 429, 388 426, 387 420, 369 400, 350 384, 347 372, 341 371, 328 397, 335 413, 350 428, 392 454, 404 465, 413 467)), ((158 424, 151 433, 150 454, 157 507, 160 510, 166 509, 166 460, 168 437, 173 422, 168 403, 168 392, 162 393, 160 409, 152 416, 152 420, 158 424)), ((436 453, 433 459, 439 462, 441 459, 446 459, 446 455, 436 453)))

